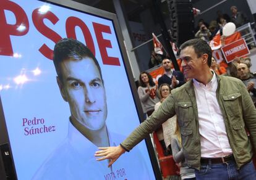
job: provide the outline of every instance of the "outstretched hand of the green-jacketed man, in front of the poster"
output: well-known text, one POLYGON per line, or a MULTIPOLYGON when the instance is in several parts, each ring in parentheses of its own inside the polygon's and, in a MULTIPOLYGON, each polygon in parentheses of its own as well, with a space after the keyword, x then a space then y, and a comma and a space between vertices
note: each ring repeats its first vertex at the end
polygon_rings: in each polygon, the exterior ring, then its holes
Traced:
POLYGON ((109 160, 108 167, 113 165, 114 162, 116 162, 117 158, 119 158, 124 152, 126 152, 125 149, 121 147, 121 145, 118 145, 116 147, 98 147, 98 151, 95 152, 95 157, 101 157, 97 158, 97 161, 102 160, 109 160))

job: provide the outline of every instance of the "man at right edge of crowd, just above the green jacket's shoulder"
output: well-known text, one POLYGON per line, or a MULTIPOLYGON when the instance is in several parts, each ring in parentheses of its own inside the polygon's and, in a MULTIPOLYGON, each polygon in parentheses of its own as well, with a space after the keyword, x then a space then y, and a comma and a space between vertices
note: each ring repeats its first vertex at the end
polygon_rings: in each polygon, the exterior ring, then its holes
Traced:
POLYGON ((256 77, 250 73, 247 63, 237 63, 237 76, 245 84, 256 107, 256 77))

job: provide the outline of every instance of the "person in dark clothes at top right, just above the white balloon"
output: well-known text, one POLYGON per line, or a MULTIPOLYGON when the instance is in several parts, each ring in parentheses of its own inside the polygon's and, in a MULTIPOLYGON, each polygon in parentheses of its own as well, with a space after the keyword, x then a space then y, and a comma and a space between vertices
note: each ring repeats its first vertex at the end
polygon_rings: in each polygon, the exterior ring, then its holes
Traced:
POLYGON ((230 10, 232 12, 231 22, 236 25, 236 28, 249 22, 247 15, 245 15, 242 11, 238 11, 236 6, 231 6, 230 10))

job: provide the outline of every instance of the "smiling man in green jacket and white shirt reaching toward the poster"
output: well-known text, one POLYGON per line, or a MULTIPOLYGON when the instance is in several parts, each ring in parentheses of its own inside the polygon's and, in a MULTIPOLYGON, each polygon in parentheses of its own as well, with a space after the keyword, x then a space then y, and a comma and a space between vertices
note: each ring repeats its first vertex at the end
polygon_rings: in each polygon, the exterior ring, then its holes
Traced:
POLYGON ((186 41, 180 51, 184 75, 192 80, 174 89, 119 146, 99 148, 95 156, 112 165, 177 114, 184 157, 197 179, 256 179, 256 109, 244 84, 210 70, 211 48, 202 39, 186 41))

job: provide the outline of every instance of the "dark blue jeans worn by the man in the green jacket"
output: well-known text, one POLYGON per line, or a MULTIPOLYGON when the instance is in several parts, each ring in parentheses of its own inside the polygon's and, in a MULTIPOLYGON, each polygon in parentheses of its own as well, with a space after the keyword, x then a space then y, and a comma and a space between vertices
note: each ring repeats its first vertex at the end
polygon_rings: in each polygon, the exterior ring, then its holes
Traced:
POLYGON ((202 164, 201 169, 195 170, 195 178, 198 180, 219 180, 219 179, 256 179, 256 171, 252 161, 242 166, 239 170, 234 161, 218 164, 202 164))

